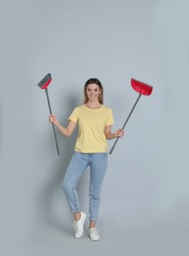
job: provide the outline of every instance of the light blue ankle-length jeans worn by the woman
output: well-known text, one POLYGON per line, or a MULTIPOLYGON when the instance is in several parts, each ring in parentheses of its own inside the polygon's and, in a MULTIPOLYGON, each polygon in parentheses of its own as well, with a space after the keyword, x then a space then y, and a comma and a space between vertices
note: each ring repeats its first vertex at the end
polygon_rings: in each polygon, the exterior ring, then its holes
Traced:
POLYGON ((107 153, 84 154, 75 152, 63 180, 63 190, 72 213, 80 212, 80 203, 76 191, 77 184, 90 166, 90 210, 89 219, 97 221, 100 191, 107 169, 107 153))

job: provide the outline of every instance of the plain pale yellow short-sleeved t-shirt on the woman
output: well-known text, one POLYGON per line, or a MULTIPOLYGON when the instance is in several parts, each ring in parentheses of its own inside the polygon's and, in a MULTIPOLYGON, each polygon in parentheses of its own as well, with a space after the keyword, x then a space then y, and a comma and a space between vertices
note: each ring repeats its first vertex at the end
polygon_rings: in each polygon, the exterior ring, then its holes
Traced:
POLYGON ((81 153, 107 152, 107 141, 104 128, 113 124, 111 108, 102 105, 92 109, 86 104, 77 106, 68 118, 78 123, 79 132, 75 145, 75 151, 81 153))

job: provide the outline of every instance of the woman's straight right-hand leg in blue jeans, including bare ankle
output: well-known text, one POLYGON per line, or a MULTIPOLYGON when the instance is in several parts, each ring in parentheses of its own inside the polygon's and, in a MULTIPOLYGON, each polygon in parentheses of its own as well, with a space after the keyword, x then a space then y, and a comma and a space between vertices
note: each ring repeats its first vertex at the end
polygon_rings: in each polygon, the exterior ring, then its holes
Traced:
POLYGON ((98 218, 101 185, 107 169, 107 154, 93 154, 90 164, 90 228, 92 228, 95 227, 98 218))

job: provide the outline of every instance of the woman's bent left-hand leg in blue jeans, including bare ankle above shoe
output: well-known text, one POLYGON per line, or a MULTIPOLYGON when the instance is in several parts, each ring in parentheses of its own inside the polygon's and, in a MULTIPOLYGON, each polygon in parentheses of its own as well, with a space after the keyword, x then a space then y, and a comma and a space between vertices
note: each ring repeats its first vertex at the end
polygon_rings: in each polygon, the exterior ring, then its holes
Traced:
POLYGON ((76 187, 88 166, 89 155, 75 152, 68 165, 62 184, 70 210, 74 213, 75 221, 80 220, 80 203, 76 187))

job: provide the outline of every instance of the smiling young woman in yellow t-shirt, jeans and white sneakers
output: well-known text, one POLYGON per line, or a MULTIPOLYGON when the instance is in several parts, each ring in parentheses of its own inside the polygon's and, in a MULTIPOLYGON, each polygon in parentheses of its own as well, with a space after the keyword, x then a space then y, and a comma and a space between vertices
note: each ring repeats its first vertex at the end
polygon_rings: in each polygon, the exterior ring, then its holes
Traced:
POLYGON ((111 132, 112 110, 103 105, 103 88, 96 78, 86 82, 84 103, 73 110, 68 120, 67 127, 63 127, 55 115, 49 116, 49 121, 66 137, 72 135, 77 124, 79 127, 74 155, 64 176, 63 190, 74 214, 75 237, 80 238, 84 232, 86 214, 81 212, 76 187, 84 171, 90 166, 89 234, 96 241, 99 240, 99 234, 95 222, 98 218, 101 184, 107 168, 106 140, 123 137, 124 131, 118 129, 111 132))

